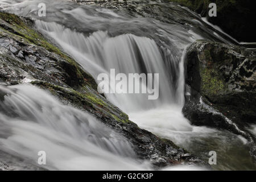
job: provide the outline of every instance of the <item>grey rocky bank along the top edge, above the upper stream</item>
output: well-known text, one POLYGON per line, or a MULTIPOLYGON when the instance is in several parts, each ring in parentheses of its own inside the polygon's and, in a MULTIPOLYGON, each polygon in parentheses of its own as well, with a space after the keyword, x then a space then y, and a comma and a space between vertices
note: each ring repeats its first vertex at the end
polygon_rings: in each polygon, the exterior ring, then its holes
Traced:
MULTIPOLYGON (((142 1, 118 1, 118 0, 69 0, 85 5, 94 5, 107 9, 126 10, 129 14, 135 17, 146 17, 160 20, 161 22, 171 24, 188 25, 193 24, 191 19, 195 18, 186 10, 177 6, 174 3, 162 3, 157 0, 142 0, 142 1)), ((193 24, 194 25, 194 24, 193 24)))

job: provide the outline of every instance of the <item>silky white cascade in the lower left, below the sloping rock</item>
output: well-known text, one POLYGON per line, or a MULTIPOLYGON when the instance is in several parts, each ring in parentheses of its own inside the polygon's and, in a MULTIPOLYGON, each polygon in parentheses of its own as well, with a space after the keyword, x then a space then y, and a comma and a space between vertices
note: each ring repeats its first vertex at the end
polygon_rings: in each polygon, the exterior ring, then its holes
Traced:
POLYGON ((148 169, 121 135, 35 86, 0 86, 0 96, 0 151, 35 164, 44 151, 47 169, 148 169))

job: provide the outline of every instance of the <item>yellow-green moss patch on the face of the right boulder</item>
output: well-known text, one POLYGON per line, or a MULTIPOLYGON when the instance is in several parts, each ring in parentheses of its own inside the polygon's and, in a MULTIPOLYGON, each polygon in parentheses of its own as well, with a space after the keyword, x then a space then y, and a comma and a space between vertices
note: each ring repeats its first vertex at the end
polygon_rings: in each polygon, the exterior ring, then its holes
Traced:
POLYGON ((225 89, 224 81, 220 74, 213 68, 202 68, 201 75, 201 92, 207 96, 215 96, 220 94, 225 89))

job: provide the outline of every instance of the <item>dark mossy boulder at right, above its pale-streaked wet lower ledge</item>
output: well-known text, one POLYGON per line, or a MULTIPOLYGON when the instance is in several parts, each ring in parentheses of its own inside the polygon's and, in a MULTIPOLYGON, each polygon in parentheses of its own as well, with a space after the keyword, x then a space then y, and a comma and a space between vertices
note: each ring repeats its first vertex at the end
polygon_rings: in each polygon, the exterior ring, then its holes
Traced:
POLYGON ((187 52, 191 98, 203 100, 236 123, 256 121, 256 55, 248 49, 197 40, 187 52))

